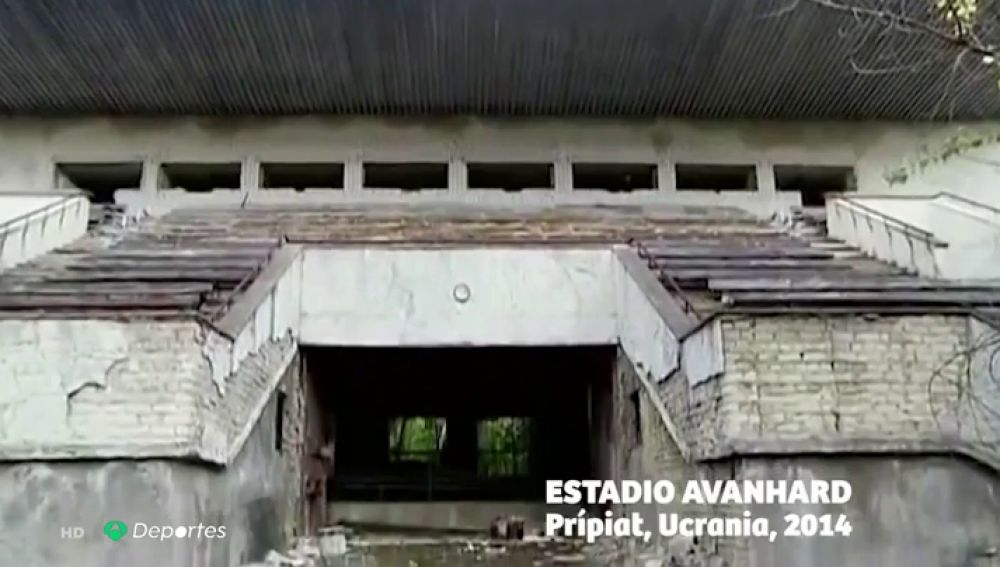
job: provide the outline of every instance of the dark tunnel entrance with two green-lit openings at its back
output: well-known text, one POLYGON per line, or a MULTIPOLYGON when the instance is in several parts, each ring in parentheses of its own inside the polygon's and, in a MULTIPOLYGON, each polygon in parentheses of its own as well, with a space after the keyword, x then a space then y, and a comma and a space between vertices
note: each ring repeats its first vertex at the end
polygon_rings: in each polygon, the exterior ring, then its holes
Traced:
POLYGON ((388 513, 374 512, 379 504, 444 502, 477 518, 485 512, 469 506, 542 506, 546 479, 593 478, 606 461, 599 415, 610 403, 615 347, 304 353, 314 421, 334 432, 333 517, 367 510, 362 519, 374 514, 377 523, 388 513))

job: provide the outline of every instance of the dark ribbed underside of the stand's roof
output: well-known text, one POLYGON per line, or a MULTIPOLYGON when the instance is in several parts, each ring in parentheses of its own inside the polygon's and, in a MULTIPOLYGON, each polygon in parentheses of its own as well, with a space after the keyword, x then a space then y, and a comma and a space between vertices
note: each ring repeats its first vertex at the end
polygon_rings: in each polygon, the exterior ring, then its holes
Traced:
POLYGON ((0 0, 0 112, 1000 117, 984 65, 794 4, 0 0))

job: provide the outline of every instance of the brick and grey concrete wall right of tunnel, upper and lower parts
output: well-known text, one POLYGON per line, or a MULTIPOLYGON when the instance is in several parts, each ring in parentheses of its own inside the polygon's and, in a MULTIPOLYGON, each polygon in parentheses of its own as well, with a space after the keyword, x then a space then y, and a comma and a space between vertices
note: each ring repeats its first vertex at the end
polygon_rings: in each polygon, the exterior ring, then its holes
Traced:
POLYGON ((844 513, 854 532, 774 543, 675 538, 647 547, 692 553, 686 565, 711 565, 713 556, 741 567, 995 565, 988 553, 1000 547, 1000 480, 995 469, 950 454, 969 449, 995 466, 995 330, 945 316, 754 317, 721 326, 724 375, 691 384, 677 373, 657 384, 696 464, 683 459, 643 395, 636 365, 620 353, 611 478, 845 479, 854 490, 851 501, 825 507, 639 505, 626 511, 650 522, 664 512, 739 516, 749 508, 779 530, 790 512, 844 513), (971 358, 964 356, 970 348, 971 358), (638 412, 631 399, 637 391, 638 412))

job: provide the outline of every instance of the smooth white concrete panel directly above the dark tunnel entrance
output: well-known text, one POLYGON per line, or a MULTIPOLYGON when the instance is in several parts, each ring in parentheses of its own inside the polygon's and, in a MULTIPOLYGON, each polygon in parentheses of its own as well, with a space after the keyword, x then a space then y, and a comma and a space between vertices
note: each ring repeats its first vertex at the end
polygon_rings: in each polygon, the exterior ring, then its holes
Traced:
POLYGON ((607 249, 309 250, 301 341, 614 344, 614 262, 607 249))

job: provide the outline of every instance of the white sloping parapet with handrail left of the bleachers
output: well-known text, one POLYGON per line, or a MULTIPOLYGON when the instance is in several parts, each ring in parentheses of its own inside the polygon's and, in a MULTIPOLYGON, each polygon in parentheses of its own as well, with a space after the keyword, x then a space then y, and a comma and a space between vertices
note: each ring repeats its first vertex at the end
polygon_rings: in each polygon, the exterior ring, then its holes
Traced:
POLYGON ((0 193, 0 271, 80 238, 89 214, 77 193, 0 193))

